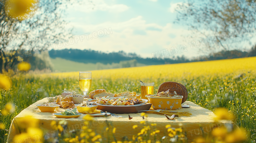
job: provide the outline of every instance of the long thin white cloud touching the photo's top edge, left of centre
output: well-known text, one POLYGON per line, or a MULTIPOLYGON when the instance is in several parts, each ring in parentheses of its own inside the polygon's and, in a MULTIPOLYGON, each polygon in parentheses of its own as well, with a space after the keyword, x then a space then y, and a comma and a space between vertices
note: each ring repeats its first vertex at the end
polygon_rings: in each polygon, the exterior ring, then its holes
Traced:
MULTIPOLYGON (((71 8, 71 7, 70 7, 71 8)), ((109 12, 123 12, 128 10, 129 7, 123 4, 108 5, 103 0, 97 0, 93 2, 84 1, 82 4, 76 3, 72 5, 72 10, 81 12, 93 12, 93 11, 109 11, 109 12)))

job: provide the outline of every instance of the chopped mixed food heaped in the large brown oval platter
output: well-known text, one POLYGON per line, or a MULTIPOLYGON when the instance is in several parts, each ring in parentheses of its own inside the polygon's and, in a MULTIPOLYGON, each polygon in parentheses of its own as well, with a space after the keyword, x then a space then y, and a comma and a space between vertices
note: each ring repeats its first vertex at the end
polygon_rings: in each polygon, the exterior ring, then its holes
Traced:
POLYGON ((137 99, 137 98, 110 98, 107 97, 97 97, 96 103, 102 104, 102 105, 114 105, 114 106, 125 106, 125 105, 138 105, 145 103, 145 100, 137 99))

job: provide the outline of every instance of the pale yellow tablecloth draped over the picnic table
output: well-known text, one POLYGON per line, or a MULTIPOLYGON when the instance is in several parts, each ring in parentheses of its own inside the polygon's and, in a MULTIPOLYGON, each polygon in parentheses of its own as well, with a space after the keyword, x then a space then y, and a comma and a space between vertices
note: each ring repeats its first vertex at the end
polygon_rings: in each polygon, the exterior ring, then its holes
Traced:
MULTIPOLYGON (((16 120, 17 118, 24 117, 26 115, 32 115, 35 118, 40 120, 40 127, 42 129, 48 130, 44 135, 53 134, 54 131, 51 128, 51 122, 55 120, 56 122, 63 120, 63 118, 57 118, 53 115, 53 113, 48 112, 40 112, 39 109, 35 109, 36 105, 42 104, 43 102, 46 102, 47 98, 44 98, 42 100, 39 100, 35 102, 34 104, 30 105, 28 108, 24 109, 19 115, 14 117, 11 123, 10 132, 8 135, 8 143, 11 142, 12 138, 15 136, 15 134, 19 134, 20 131, 17 128, 16 120)), ((181 108, 179 110, 174 110, 177 112, 189 112, 192 115, 190 117, 187 116, 181 116, 181 117, 175 117, 174 120, 168 120, 164 115, 157 115, 157 114, 147 114, 148 117, 146 120, 150 123, 156 123, 157 129, 160 130, 160 133, 158 133, 159 137, 163 137, 164 135, 167 135, 167 130, 165 126, 167 124, 170 124, 174 128, 179 128, 179 124, 182 123, 183 131, 186 132, 186 136, 188 138, 188 142, 193 141, 193 139, 197 137, 201 137, 202 134, 209 133, 213 130, 215 127, 221 127, 221 126, 230 126, 233 124, 232 121, 221 121, 220 123, 215 123, 212 119, 215 115, 213 112, 211 112, 208 109, 202 108, 193 102, 186 101, 184 104, 188 103, 190 105, 190 108, 181 108), (203 130, 203 132, 200 130, 203 130)), ((59 108, 56 112, 62 112, 65 109, 59 108)), ((116 118, 116 117, 110 117, 107 120, 111 121, 113 126, 116 127, 116 134, 115 137, 117 140, 122 140, 124 136, 127 136, 129 139, 132 138, 132 135, 138 134, 140 129, 143 128, 144 125, 140 124, 140 121, 142 121, 142 117, 140 116, 140 113, 137 114, 129 114, 131 117, 133 117, 131 120, 128 118, 128 114, 116 114, 122 116, 122 118, 116 118), (138 129, 133 129, 133 125, 138 125, 138 129)), ((69 118, 65 119, 68 122, 68 129, 67 130, 79 130, 82 126, 84 126, 84 120, 82 119, 84 115, 78 117, 78 118, 69 118)), ((104 122, 106 118, 104 117, 96 117, 93 121, 93 125, 90 125, 91 129, 93 129, 97 134, 103 135, 102 138, 106 139, 107 134, 104 132, 106 128, 106 123, 104 122), (104 132, 104 133, 103 133, 104 132)), ((235 124, 234 124, 235 125, 235 124)), ((236 126, 236 125, 235 125, 236 126)))

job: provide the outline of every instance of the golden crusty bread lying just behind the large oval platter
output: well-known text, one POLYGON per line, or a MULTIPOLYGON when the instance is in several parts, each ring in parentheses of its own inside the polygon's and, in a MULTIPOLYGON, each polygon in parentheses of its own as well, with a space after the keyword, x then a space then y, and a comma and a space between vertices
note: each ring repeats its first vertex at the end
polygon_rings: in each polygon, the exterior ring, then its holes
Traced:
POLYGON ((101 98, 101 97, 126 97, 126 98, 139 98, 140 95, 136 94, 136 92, 121 92, 121 93, 111 93, 111 92, 106 92, 105 89, 96 89, 92 92, 90 92, 90 98, 96 99, 101 98))

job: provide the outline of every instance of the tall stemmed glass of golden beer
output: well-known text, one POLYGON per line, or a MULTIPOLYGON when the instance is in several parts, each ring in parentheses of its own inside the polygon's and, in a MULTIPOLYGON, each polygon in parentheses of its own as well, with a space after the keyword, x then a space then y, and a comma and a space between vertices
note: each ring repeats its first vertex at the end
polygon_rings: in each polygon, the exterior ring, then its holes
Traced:
POLYGON ((84 95, 88 95, 88 92, 92 86, 92 72, 79 72, 79 86, 84 95))

